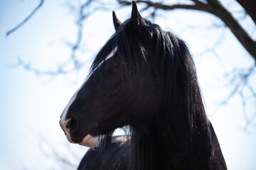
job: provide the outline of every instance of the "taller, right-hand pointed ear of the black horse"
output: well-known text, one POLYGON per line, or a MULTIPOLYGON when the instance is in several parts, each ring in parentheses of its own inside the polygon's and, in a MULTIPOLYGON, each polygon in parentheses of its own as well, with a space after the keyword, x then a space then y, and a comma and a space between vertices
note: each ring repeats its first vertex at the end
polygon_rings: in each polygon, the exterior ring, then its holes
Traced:
POLYGON ((139 14, 137 5, 135 1, 132 1, 132 17, 131 17, 132 28, 137 32, 137 34, 145 40, 149 42, 152 39, 152 28, 147 27, 147 23, 139 14))

